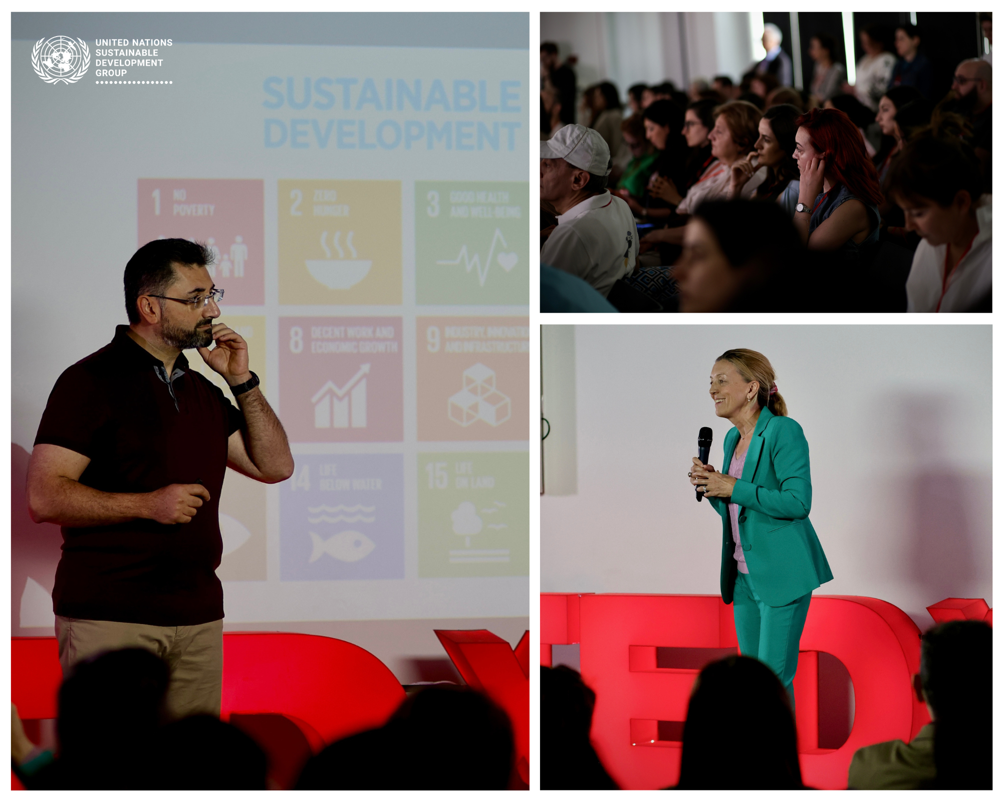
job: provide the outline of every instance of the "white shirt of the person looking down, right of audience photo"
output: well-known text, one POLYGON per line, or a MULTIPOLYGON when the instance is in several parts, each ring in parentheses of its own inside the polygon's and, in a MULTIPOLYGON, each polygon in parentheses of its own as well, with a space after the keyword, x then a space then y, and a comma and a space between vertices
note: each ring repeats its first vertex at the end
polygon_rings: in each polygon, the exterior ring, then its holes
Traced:
POLYGON ((983 194, 975 207, 978 235, 949 276, 944 292, 946 246, 923 240, 915 250, 908 274, 908 311, 967 312, 992 289, 992 196, 983 194), (942 301, 940 300, 942 299, 942 301))

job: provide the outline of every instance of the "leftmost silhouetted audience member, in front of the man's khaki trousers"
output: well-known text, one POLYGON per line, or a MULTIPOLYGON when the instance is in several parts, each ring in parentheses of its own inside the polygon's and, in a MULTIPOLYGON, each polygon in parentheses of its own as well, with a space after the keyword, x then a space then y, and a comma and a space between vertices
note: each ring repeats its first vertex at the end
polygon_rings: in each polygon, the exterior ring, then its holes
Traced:
POLYGON ((78 663, 59 688, 58 757, 24 756, 14 767, 21 782, 29 790, 150 788, 148 746, 168 680, 167 664, 144 649, 78 663))

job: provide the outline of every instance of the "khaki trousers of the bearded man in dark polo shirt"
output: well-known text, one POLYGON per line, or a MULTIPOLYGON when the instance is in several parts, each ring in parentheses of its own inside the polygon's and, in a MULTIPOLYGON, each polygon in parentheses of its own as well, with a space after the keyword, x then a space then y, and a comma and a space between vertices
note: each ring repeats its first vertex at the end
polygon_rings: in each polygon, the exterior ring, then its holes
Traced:
POLYGON ((56 616, 63 676, 92 655, 115 649, 148 649, 170 667, 165 707, 171 719, 219 715, 222 701, 222 620, 194 627, 153 627, 56 616))

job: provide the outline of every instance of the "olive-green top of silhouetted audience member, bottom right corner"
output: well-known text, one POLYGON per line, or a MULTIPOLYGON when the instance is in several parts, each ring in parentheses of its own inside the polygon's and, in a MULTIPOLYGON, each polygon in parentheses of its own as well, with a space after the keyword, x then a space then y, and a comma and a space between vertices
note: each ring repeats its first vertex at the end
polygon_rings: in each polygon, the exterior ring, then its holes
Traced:
POLYGON ((856 750, 849 766, 849 787, 862 791, 928 788, 936 777, 934 732, 934 725, 927 724, 910 744, 885 741, 856 750))

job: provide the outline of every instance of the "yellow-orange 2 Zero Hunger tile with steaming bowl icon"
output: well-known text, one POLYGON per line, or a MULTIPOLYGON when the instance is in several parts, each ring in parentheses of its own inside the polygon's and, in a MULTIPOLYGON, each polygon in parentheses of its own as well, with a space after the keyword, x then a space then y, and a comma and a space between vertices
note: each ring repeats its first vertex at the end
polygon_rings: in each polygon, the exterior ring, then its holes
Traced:
POLYGON ((400 181, 280 180, 280 302, 402 303, 400 198, 400 181))

